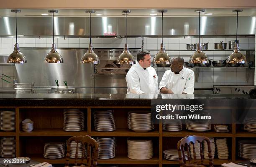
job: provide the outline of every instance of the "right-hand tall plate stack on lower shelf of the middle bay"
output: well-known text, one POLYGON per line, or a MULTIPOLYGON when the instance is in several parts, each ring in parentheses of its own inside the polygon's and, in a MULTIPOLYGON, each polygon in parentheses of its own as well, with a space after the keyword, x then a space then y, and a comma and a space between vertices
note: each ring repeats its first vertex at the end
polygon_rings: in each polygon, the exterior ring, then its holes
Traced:
POLYGON ((148 160, 153 157, 153 142, 149 139, 128 138, 128 158, 148 160))

